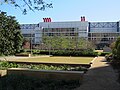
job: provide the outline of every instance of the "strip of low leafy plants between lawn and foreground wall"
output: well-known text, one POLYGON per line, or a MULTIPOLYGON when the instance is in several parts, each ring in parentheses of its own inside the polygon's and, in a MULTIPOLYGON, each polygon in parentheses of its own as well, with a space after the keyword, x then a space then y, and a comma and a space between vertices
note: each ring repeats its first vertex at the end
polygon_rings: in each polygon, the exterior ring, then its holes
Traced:
POLYGON ((69 66, 69 65, 44 65, 44 64, 17 64, 17 63, 10 63, 7 61, 0 62, 0 69, 8 69, 8 68, 28 68, 28 69, 37 69, 37 70, 65 70, 65 71, 87 71, 87 68, 81 66, 69 66))

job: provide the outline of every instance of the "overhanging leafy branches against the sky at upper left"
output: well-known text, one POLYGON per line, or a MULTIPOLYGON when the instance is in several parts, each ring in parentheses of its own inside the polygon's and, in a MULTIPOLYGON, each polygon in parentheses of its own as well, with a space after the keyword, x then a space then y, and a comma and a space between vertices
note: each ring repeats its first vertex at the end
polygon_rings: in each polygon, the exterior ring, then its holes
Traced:
POLYGON ((0 0, 1 4, 7 3, 19 8, 23 14, 27 14, 28 10, 31 11, 44 11, 46 8, 53 8, 52 3, 46 3, 45 0, 0 0))

